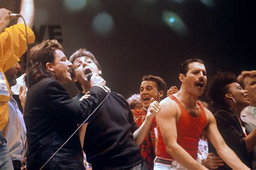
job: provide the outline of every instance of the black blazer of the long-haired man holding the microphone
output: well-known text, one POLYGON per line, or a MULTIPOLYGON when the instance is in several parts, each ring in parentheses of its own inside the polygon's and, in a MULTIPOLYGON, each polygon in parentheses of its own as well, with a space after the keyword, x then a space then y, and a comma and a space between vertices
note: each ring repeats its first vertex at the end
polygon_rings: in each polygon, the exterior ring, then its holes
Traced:
MULTIPOLYGON (((93 86, 91 96, 73 100, 55 79, 33 84, 26 95, 24 121, 28 137, 28 169, 39 169, 77 129, 106 96, 93 86)), ((84 169, 78 133, 46 164, 44 169, 84 169)))

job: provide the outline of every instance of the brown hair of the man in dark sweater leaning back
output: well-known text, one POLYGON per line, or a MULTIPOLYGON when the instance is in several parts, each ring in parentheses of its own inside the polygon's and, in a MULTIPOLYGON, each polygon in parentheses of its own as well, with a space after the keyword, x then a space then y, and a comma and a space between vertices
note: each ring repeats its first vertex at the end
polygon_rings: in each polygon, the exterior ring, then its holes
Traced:
MULTIPOLYGON (((99 62, 96 60, 95 56, 90 51, 87 51, 85 48, 80 48, 75 53, 73 53, 70 56, 69 61, 73 64, 76 59, 78 59, 78 58, 80 58, 82 56, 89 57, 96 64, 98 69, 102 69, 102 67, 100 67, 100 65, 99 65, 99 62)), ((70 74, 71 74, 71 77, 73 79, 73 77, 75 77, 75 72, 74 72, 74 68, 73 67, 70 69, 70 74)), ((73 83, 75 84, 75 86, 77 87, 77 89, 79 91, 83 91, 83 88, 82 88, 82 86, 81 86, 81 84, 79 82, 73 82, 73 83)))

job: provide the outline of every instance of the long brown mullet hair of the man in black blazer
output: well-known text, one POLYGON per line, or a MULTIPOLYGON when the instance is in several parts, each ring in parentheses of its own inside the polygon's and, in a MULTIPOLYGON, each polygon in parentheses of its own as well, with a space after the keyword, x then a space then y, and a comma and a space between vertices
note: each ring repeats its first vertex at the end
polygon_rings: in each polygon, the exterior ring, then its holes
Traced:
POLYGON ((54 73, 46 69, 46 63, 54 62, 56 49, 63 51, 57 40, 45 40, 30 49, 28 71, 24 77, 28 88, 46 77, 55 79, 54 73))

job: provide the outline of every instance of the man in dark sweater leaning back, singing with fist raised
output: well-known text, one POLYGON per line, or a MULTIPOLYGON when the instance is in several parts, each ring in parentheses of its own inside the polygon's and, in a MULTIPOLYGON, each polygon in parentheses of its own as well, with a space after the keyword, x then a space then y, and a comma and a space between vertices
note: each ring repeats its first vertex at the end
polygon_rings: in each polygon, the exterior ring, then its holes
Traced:
MULTIPOLYGON (((81 91, 75 98, 90 91, 89 73, 102 74, 95 56, 86 49, 72 54, 71 76, 81 91)), ((91 92, 91 91, 90 91, 91 92)), ((149 133, 151 121, 159 112, 158 102, 151 101, 146 121, 139 129, 125 98, 110 92, 104 103, 87 124, 83 150, 92 169, 146 169, 139 144, 149 133)))

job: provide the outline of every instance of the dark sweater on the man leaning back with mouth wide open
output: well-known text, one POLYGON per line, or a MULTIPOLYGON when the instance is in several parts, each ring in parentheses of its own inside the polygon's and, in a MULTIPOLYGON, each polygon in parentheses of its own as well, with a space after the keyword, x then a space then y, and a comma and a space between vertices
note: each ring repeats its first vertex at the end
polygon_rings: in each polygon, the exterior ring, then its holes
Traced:
MULTIPOLYGON (((76 100, 83 95, 77 95, 76 100)), ((140 148, 133 140, 136 129, 125 98, 111 92, 86 128, 84 151, 92 169, 121 169, 143 162, 140 148)))

